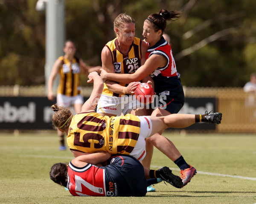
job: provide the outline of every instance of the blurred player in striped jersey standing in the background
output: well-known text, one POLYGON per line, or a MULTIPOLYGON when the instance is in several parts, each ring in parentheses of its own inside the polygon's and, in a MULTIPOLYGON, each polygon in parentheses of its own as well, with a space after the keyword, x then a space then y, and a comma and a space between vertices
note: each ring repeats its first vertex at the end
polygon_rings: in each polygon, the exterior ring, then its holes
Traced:
MULTIPOLYGON (((73 40, 66 40, 64 45, 64 56, 59 57, 52 68, 52 72, 48 80, 47 98, 51 101, 55 100, 53 94, 53 82, 60 75, 60 82, 57 92, 57 103, 63 107, 73 106, 76 113, 80 113, 84 104, 81 93, 80 74, 89 74, 92 71, 99 71, 100 66, 87 66, 82 59, 75 57, 76 43, 73 40)), ((64 133, 58 131, 60 142, 60 150, 66 150, 64 142, 64 133)))

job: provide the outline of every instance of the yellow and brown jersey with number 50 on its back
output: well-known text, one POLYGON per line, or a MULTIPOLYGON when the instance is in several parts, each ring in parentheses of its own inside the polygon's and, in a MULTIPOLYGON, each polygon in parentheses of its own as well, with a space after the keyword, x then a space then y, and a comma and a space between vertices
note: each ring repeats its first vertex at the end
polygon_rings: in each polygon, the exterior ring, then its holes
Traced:
POLYGON ((86 153, 130 154, 139 134, 140 119, 137 116, 103 117, 96 112, 79 113, 71 120, 67 144, 70 150, 86 153))

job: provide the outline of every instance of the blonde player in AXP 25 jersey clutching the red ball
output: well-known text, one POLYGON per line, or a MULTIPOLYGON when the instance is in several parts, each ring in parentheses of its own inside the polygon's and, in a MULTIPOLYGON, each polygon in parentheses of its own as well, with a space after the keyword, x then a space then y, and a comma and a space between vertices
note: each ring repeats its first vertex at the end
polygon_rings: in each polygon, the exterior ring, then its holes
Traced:
MULTIPOLYGON (((102 69, 116 74, 134 74, 144 64, 148 46, 143 40, 134 37, 135 20, 128 14, 119 14, 113 25, 116 38, 102 49, 102 69)), ((153 80, 147 76, 143 82, 152 84, 153 80)), ((120 116, 138 108, 140 103, 132 95, 139 83, 106 81, 97 105, 97 113, 103 116, 120 116)), ((140 108, 140 113, 137 112, 136 115, 150 115, 146 111, 148 110, 140 108)))

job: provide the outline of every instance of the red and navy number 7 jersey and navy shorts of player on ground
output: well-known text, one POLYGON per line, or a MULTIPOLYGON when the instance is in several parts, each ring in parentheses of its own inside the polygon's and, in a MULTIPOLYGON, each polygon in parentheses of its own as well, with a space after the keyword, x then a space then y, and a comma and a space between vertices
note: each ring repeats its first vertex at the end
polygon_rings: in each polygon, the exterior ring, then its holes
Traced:
POLYGON ((70 161, 67 188, 74 196, 144 196, 147 182, 142 164, 128 155, 113 155, 105 167, 70 161))

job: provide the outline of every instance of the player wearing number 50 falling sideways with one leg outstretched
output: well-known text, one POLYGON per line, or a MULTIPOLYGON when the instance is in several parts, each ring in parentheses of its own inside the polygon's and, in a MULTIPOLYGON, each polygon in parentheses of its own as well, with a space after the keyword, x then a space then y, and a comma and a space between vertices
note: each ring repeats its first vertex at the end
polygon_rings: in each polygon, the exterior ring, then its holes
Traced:
MULTIPOLYGON (((195 122, 220 124, 222 113, 204 115, 171 114, 168 116, 101 116, 94 109, 104 84, 96 72, 88 76, 94 82, 90 98, 82 106, 81 113, 73 116, 68 108, 52 105, 55 111, 52 122, 58 130, 67 133, 67 143, 75 157, 106 151, 112 154, 129 154, 141 161, 145 157, 145 138, 168 127, 183 128, 195 122)), ((160 139, 161 151, 172 157, 171 141, 160 139)))

